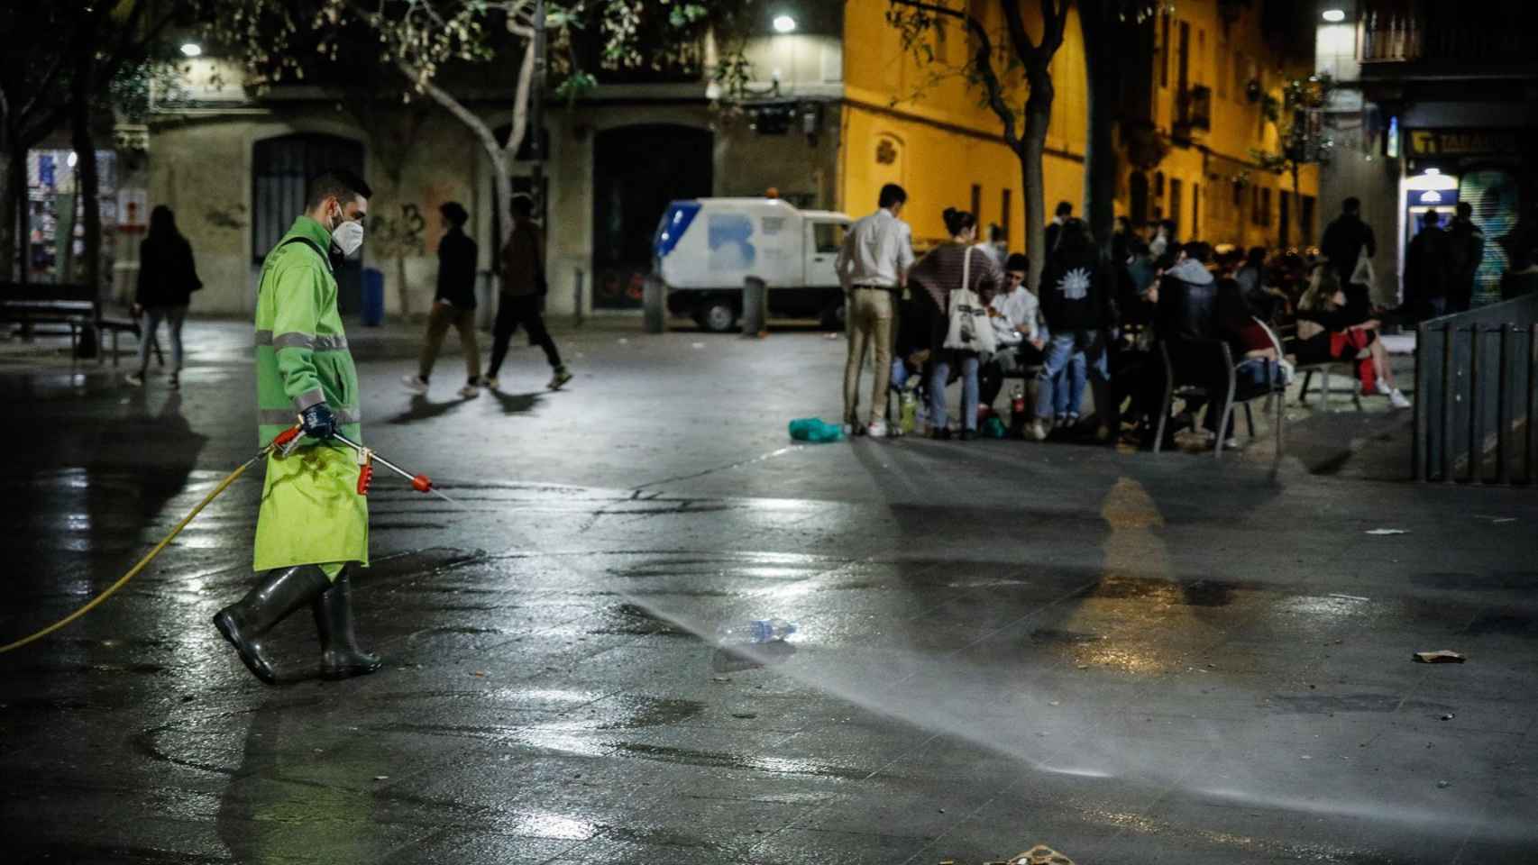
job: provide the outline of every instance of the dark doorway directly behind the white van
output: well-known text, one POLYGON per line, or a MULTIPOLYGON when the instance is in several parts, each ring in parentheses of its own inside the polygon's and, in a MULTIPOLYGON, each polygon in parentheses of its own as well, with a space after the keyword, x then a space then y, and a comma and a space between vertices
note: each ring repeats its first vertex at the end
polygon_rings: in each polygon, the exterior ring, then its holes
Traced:
POLYGON ((714 137, 691 126, 621 126, 592 151, 592 306, 640 309, 667 203, 714 189, 714 137))

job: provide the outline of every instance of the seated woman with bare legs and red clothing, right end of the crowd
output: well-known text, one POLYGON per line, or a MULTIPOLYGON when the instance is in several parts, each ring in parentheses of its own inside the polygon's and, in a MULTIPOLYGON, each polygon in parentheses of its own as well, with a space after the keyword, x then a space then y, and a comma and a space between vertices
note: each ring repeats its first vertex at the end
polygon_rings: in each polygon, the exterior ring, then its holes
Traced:
POLYGON ((1298 338, 1287 344, 1287 356, 1300 367, 1355 363, 1363 396, 1387 396, 1395 409, 1409 409, 1410 401, 1393 386, 1389 352, 1378 340, 1380 323, 1363 300, 1353 295, 1347 301, 1335 269, 1317 266, 1298 301, 1298 338))

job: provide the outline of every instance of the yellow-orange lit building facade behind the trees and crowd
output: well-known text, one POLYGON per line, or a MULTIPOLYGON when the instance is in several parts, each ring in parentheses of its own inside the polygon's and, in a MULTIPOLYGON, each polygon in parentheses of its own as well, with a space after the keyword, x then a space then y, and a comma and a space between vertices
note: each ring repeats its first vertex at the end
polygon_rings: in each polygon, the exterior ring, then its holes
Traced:
MULTIPOLYGON (((1009 40, 1000 2, 950 5, 986 23, 997 68, 1006 69, 1009 40)), ((1023 8, 1027 26, 1040 32, 1040 18, 1032 18, 1040 8, 1032 2, 1023 8)), ((849 0, 844 11, 837 206, 864 214, 875 207, 883 183, 900 183, 909 192, 904 218, 917 243, 940 240, 940 214, 960 207, 974 210, 983 226, 1000 226, 1009 249, 1024 249, 1020 161, 1004 144, 1001 121, 983 103, 980 88, 961 74, 972 38, 960 22, 949 22, 930 34, 935 63, 921 63, 903 48, 901 34, 886 20, 887 9, 887 0, 849 0)), ((1172 12, 1143 26, 1152 45, 1150 68, 1141 72, 1149 85, 1144 111, 1167 152, 1147 171, 1127 164, 1123 155, 1117 214, 1135 221, 1175 220, 1178 237, 1210 243, 1315 243, 1315 171, 1301 172, 1298 197, 1289 175, 1261 169, 1252 154, 1277 149, 1277 131, 1263 118, 1263 106, 1266 94, 1280 97, 1284 80, 1280 55, 1264 41, 1258 5, 1224 22, 1217 0, 1180 0, 1172 12), (1307 227, 1298 226, 1298 207, 1309 218, 1307 227)), ((1004 83, 1023 126, 1024 75, 1017 71, 1004 83)), ((1058 201, 1081 212, 1084 198, 1089 94, 1077 11, 1054 57, 1052 83, 1043 166, 1047 218, 1058 201)), ((1126 129, 1118 131, 1118 138, 1126 135, 1126 129)), ((1123 141, 1117 146, 1121 152, 1123 141)))

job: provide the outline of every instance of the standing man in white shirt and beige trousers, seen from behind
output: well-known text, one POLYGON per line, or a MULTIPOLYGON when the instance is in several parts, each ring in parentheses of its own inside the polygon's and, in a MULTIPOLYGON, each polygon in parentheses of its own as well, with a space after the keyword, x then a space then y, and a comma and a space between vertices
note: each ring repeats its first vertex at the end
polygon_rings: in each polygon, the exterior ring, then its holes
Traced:
POLYGON ((834 269, 844 286, 844 317, 849 321, 849 356, 844 361, 844 433, 886 435, 886 387, 892 375, 892 318, 895 298, 907 284, 914 264, 912 229, 897 218, 907 192, 895 183, 881 187, 880 209, 857 220, 844 235, 834 269), (860 424, 860 367, 866 350, 875 349, 875 381, 871 389, 871 423, 860 424))

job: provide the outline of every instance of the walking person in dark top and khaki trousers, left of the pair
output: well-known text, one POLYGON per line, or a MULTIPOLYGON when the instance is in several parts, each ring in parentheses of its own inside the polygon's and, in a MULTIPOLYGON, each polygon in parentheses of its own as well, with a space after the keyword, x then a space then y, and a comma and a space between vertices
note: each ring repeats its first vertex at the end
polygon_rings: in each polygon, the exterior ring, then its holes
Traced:
POLYGON ((475 347, 475 263, 480 252, 475 241, 464 234, 469 212, 458 201, 438 207, 448 230, 438 241, 438 293, 432 298, 432 313, 428 315, 428 340, 421 346, 417 375, 401 381, 417 393, 428 392, 432 364, 438 360, 443 336, 449 324, 460 332, 460 349, 464 350, 464 387, 460 396, 472 399, 480 395, 480 349, 475 347))

